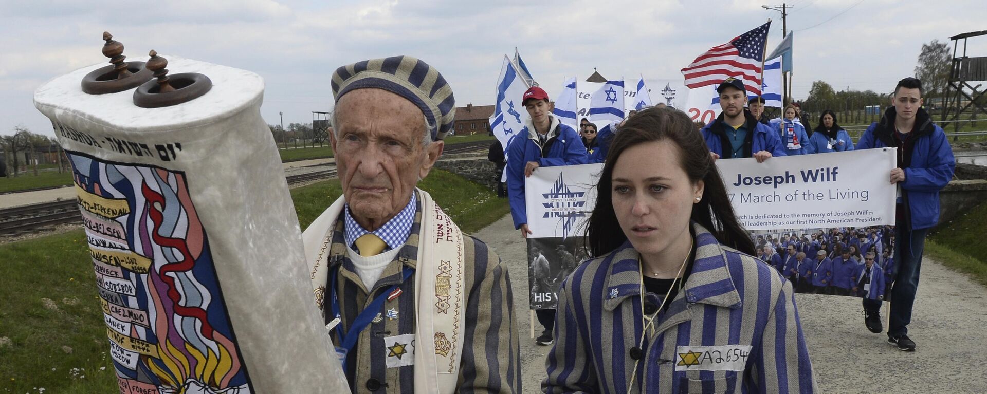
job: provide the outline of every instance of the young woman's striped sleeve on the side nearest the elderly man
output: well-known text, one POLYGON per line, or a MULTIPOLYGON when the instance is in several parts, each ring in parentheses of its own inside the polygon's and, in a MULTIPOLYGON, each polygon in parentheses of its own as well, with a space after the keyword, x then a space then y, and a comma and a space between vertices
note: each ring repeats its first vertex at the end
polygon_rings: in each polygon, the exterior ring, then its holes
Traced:
MULTIPOLYGON (((575 311, 569 300, 569 276, 559 288, 559 308, 556 310, 555 342, 545 358, 548 377, 542 381, 542 392, 548 394, 596 392, 596 373, 589 346, 583 342, 575 311)), ((578 297, 578 294, 576 294, 578 297)))

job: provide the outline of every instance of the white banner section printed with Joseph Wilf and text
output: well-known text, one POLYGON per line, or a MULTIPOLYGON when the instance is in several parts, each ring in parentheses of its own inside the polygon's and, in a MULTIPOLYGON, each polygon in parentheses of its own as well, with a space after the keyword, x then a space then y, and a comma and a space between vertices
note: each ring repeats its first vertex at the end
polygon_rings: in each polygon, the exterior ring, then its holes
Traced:
MULTIPOLYGON (((894 224, 896 149, 717 160, 748 231, 894 224)), ((530 211, 529 211, 530 212, 530 211)), ((529 214, 530 216, 530 214, 529 214)))

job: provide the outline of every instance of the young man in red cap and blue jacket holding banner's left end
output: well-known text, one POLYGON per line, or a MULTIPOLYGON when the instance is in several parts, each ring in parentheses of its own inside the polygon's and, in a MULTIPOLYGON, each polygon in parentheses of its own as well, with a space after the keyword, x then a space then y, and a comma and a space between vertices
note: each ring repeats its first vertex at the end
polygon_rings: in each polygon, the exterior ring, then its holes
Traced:
MULTIPOLYGON (((528 111, 520 134, 507 147, 507 197, 510 198, 510 214, 514 228, 521 230, 524 238, 531 234, 524 202, 524 179, 539 167, 586 164, 589 157, 582 139, 572 127, 563 124, 552 115, 549 95, 537 86, 524 92, 521 104, 528 111)), ((555 327, 555 309, 535 311, 538 321, 545 327, 538 337, 539 345, 552 345, 552 329, 555 327)))

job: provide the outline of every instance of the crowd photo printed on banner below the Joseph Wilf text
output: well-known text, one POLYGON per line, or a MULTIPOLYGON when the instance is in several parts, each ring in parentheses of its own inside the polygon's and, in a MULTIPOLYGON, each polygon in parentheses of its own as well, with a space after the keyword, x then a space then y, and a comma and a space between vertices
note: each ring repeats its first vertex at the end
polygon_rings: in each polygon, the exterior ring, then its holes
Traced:
POLYGON ((757 257, 799 293, 890 300, 894 226, 750 231, 757 257))

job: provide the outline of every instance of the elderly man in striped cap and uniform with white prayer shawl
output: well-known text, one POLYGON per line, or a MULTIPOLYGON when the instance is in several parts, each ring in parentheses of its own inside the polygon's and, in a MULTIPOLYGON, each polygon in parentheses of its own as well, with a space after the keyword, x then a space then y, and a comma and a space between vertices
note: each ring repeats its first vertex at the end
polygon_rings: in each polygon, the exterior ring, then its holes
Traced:
POLYGON ((354 393, 520 392, 507 269, 416 186, 455 101, 411 56, 333 74, 342 197, 303 235, 315 302, 354 393))

